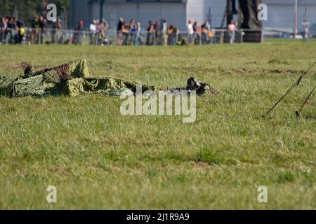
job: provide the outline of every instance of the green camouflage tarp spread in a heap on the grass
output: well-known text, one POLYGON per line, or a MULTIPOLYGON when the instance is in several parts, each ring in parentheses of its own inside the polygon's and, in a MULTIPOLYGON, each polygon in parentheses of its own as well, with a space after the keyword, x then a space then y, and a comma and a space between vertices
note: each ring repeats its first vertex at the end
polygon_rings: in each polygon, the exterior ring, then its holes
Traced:
MULTIPOLYGON (((29 70, 21 76, 0 76, 0 96, 45 97, 66 94, 75 97, 82 94, 120 95, 125 90, 136 92, 137 83, 118 78, 93 78, 86 60, 34 72, 29 70)), ((143 91, 154 87, 142 85, 143 91)))

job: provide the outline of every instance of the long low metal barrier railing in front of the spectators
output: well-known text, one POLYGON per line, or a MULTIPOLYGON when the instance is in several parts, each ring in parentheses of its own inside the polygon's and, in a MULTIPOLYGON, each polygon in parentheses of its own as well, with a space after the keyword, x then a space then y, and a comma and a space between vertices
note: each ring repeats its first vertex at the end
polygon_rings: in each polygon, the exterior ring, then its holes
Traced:
POLYGON ((75 31, 31 29, 0 31, 1 44, 74 45, 210 45, 218 43, 260 42, 264 38, 290 38, 287 31, 275 29, 211 29, 188 34, 187 31, 75 31), (246 35, 247 34, 247 35, 246 35), (245 38, 246 37, 246 38, 245 38))

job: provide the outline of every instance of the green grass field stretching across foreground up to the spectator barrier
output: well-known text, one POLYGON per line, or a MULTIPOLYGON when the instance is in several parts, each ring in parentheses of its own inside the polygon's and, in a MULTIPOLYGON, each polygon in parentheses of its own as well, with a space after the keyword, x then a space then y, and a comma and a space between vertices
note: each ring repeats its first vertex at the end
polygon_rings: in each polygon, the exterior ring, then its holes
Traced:
POLYGON ((94 76, 178 87, 205 80, 197 120, 121 116, 117 97, 0 98, 0 209, 316 209, 316 101, 295 111, 316 42, 185 47, 0 46, 0 73, 85 57, 94 76), (58 202, 46 202, 56 186, 58 202), (258 203, 258 186, 268 203, 258 203))

